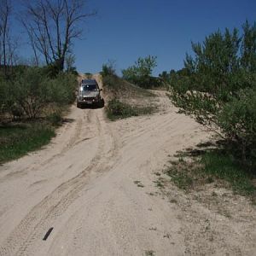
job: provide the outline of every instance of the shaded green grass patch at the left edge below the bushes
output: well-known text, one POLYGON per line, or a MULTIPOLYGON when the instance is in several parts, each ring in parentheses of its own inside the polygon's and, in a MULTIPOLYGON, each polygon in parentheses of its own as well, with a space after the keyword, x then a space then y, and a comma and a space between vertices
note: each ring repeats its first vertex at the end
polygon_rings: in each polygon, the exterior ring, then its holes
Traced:
POLYGON ((44 122, 0 125, 0 163, 41 148, 54 136, 53 126, 44 122))

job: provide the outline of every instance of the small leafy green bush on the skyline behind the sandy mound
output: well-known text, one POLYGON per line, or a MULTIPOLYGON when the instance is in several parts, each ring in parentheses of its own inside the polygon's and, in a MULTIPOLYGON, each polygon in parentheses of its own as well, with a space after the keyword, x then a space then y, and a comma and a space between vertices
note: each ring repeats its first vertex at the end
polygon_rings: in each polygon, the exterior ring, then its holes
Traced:
POLYGON ((156 56, 148 55, 145 58, 138 58, 133 66, 122 70, 123 79, 143 88, 159 86, 159 81, 152 78, 152 72, 156 66, 156 56))

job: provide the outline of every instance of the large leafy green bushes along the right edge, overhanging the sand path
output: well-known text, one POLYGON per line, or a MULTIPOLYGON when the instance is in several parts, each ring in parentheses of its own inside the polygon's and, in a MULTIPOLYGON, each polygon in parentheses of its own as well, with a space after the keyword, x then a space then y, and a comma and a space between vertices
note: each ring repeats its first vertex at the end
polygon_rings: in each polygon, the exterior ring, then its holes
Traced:
POLYGON ((160 74, 172 102, 228 141, 234 159, 256 167, 256 24, 192 43, 180 71, 160 74))

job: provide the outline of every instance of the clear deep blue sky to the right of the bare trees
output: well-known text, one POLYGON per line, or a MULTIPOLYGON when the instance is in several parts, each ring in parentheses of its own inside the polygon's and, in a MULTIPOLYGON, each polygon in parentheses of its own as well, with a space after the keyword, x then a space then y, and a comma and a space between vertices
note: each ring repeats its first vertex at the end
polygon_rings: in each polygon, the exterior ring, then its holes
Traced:
POLYGON ((102 63, 116 69, 138 57, 156 55, 154 75, 180 69, 191 41, 201 42, 225 27, 256 21, 255 0, 88 0, 98 14, 84 23, 84 38, 73 47, 78 71, 96 73, 102 63))

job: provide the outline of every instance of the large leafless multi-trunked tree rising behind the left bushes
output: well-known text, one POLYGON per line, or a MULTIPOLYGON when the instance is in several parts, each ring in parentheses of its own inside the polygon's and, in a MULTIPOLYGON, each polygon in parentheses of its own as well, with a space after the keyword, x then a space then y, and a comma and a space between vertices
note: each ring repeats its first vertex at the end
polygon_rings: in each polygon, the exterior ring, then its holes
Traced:
POLYGON ((83 32, 81 22, 96 15, 85 11, 84 0, 26 0, 26 27, 36 60, 38 53, 46 64, 64 68, 67 55, 72 51, 75 38, 83 32))

